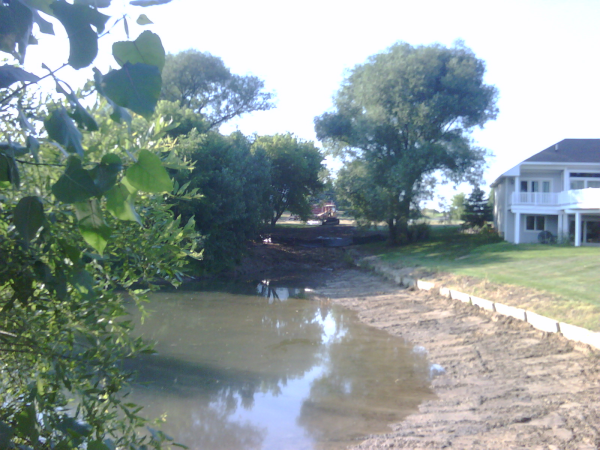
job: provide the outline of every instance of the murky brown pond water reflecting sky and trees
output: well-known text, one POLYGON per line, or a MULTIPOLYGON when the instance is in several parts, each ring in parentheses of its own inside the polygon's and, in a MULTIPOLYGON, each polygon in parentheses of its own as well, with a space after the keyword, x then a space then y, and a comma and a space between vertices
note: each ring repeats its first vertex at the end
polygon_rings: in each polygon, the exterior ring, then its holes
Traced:
POLYGON ((425 357, 355 313, 259 285, 154 296, 131 400, 190 449, 337 449, 432 398, 425 357), (254 289, 254 288, 253 288, 254 289), (262 294, 262 295, 260 295, 262 294))

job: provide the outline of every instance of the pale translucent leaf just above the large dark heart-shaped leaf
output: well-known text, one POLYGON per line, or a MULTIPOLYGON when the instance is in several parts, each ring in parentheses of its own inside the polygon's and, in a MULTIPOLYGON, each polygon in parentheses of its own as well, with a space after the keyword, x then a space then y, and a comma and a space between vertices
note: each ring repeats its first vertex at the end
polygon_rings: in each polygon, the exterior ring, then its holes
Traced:
POLYGON ((162 72, 165 65, 165 49, 158 34, 151 31, 144 31, 133 42, 115 42, 113 56, 121 67, 125 63, 143 63, 156 66, 162 72))

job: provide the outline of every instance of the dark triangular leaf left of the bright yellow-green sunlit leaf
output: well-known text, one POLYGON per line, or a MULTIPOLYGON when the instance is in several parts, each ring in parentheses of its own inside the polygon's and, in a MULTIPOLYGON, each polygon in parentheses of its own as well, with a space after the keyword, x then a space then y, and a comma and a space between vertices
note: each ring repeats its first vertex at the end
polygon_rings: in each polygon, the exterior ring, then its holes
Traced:
POLYGON ((81 167, 81 161, 71 156, 67 168, 52 186, 52 193, 63 203, 76 203, 102 194, 89 171, 81 167))

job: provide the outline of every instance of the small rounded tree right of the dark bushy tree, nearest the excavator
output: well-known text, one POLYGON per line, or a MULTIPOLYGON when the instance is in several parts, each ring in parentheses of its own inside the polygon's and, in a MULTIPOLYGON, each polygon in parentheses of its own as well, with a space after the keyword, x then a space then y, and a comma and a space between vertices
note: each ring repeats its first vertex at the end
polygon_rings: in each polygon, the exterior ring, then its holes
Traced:
POLYGON ((269 161, 271 226, 275 226, 284 211, 306 220, 311 213, 310 197, 323 188, 319 177, 323 155, 319 149, 313 142, 288 133, 258 137, 252 151, 264 153, 269 161))

